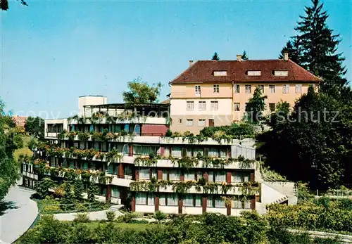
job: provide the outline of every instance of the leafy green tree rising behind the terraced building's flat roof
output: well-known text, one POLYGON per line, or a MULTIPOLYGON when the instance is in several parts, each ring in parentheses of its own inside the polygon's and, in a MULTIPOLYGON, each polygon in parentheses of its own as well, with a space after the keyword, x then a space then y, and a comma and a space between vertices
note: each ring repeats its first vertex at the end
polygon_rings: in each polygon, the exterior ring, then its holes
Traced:
POLYGON ((150 86, 139 77, 128 82, 130 91, 123 91, 122 98, 125 103, 130 104, 157 103, 161 87, 161 83, 150 86))

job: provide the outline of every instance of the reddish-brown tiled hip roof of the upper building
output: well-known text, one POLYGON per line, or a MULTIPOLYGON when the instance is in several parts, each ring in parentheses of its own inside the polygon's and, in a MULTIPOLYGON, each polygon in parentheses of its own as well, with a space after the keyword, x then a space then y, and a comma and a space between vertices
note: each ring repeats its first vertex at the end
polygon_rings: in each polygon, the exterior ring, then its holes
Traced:
POLYGON ((291 60, 199 60, 172 80, 171 84, 203 82, 321 82, 291 60), (260 76, 248 76, 249 70, 260 70, 260 76), (287 70, 288 76, 275 76, 274 70, 287 70), (214 71, 227 71, 227 76, 214 76, 214 71))

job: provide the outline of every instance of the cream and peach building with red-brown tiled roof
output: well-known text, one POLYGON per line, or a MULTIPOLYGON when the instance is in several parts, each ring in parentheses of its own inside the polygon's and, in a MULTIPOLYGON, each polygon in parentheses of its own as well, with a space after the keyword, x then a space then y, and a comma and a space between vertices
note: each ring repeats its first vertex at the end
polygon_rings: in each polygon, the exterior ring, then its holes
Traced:
POLYGON ((199 60, 170 82, 172 131, 198 134, 203 127, 229 125, 243 119, 246 103, 259 87, 265 113, 277 103, 295 101, 318 87, 321 79, 285 56, 283 60, 199 60))

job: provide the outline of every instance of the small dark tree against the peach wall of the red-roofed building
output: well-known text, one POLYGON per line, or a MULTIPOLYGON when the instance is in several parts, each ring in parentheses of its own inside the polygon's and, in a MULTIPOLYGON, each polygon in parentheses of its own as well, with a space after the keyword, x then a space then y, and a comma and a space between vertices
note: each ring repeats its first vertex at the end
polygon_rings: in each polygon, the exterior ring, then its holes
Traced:
POLYGON ((246 120, 251 123, 258 124, 263 116, 265 110, 265 99, 268 96, 262 96, 259 87, 254 91, 253 97, 249 99, 246 104, 246 120))

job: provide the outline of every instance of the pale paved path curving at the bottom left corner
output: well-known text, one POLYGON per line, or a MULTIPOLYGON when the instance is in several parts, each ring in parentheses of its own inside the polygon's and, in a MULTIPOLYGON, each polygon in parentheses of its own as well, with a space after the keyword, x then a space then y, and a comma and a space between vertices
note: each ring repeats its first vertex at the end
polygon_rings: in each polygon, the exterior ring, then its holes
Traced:
POLYGON ((15 208, 5 210, 0 216, 0 243, 13 243, 27 231, 37 217, 37 203, 30 199, 32 191, 14 186, 8 191, 4 201, 13 203, 15 208))

